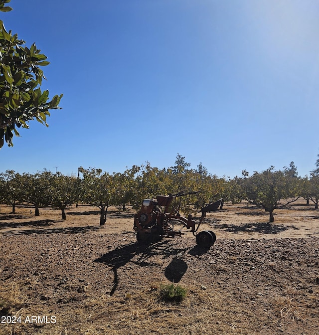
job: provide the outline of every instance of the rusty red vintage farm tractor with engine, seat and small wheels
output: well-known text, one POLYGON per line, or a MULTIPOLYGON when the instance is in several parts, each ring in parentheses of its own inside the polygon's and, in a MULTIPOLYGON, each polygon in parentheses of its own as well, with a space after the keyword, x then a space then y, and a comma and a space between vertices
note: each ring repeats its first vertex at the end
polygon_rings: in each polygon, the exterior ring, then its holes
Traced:
POLYGON ((199 192, 176 193, 169 195, 158 195, 156 199, 144 199, 141 209, 134 217, 134 230, 137 232, 137 240, 139 243, 149 244, 166 236, 174 238, 184 234, 181 230, 175 231, 174 222, 181 223, 183 227, 189 229, 196 237, 198 246, 209 248, 216 241, 216 235, 211 230, 197 230, 202 223, 206 212, 216 211, 222 203, 222 199, 210 203, 201 208, 201 218, 198 223, 192 218, 192 215, 184 217, 179 214, 179 209, 171 206, 172 200, 175 197, 196 194, 199 192))

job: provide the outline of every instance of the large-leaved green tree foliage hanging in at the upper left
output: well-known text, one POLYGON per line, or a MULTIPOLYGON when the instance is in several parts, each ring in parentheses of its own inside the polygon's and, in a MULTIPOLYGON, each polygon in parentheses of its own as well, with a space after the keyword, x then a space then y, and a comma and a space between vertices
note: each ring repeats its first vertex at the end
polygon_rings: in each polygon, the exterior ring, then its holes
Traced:
MULTIPOLYGON (((0 0, 0 11, 12 9, 4 6, 8 2, 0 0)), ((4 141, 11 147, 13 135, 19 136, 16 128, 28 129, 30 120, 48 127, 49 110, 60 109, 62 94, 49 101, 49 91, 39 87, 46 79, 40 67, 49 64, 47 57, 34 43, 30 48, 24 43, 0 20, 0 148, 4 141)))

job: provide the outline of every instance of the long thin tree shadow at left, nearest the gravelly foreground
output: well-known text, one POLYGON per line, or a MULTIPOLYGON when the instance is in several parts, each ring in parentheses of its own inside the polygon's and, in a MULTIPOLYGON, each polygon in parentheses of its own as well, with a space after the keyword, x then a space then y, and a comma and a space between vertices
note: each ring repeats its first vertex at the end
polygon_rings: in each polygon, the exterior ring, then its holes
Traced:
MULTIPOLYGON (((53 221, 56 222, 56 221, 53 221)), ((52 228, 39 228, 39 229, 18 229, 18 230, 7 230, 0 235, 31 235, 31 234, 78 234, 93 232, 100 229, 100 226, 82 226, 82 227, 52 227, 52 228)))

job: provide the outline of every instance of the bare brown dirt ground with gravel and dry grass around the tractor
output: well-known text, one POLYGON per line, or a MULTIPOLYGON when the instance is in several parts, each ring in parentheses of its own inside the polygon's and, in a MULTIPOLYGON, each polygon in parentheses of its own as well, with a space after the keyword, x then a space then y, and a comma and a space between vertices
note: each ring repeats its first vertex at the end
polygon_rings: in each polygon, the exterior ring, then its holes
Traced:
MULTIPOLYGON (((208 250, 191 233, 140 246, 134 212, 80 205, 0 208, 0 334, 319 334, 319 212, 269 215, 246 203, 207 214, 208 250), (30 213, 31 211, 31 213, 30 213), (187 289, 179 304, 161 284, 187 289)), ((177 227, 175 227, 177 228, 177 227)))

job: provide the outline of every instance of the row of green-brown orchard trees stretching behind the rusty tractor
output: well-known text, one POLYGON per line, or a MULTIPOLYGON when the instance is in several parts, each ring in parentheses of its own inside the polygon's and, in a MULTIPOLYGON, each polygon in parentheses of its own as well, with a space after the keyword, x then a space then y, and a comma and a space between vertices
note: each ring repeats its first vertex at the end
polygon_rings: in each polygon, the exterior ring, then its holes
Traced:
POLYGON ((122 210, 131 205, 138 210, 145 198, 178 192, 200 191, 174 199, 172 206, 185 214, 197 213, 205 204, 220 198, 233 203, 247 200, 268 212, 270 222, 274 222, 275 209, 300 197, 318 208, 319 160, 310 177, 298 176, 293 162, 282 170, 270 167, 252 175, 243 170, 242 176, 234 178, 212 175, 201 163, 196 169, 189 167, 185 157, 178 154, 173 167, 160 169, 147 163, 127 168, 123 173, 79 167, 75 177, 46 170, 34 174, 7 170, 0 173, 0 202, 12 206, 12 213, 16 204, 30 203, 35 207, 35 215, 39 215, 40 207, 51 206, 61 210, 63 220, 66 207, 86 203, 100 208, 100 225, 105 224, 111 205, 122 210))

